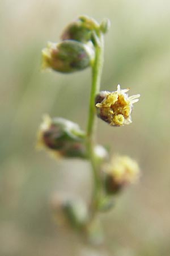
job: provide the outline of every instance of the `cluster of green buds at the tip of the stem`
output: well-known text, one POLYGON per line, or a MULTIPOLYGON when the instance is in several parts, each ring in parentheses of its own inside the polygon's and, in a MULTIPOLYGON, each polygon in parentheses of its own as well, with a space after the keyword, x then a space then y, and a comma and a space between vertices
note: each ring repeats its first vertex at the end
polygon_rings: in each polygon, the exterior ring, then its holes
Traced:
POLYGON ((98 24, 88 16, 80 16, 62 32, 61 42, 49 42, 42 49, 42 69, 71 73, 91 67, 95 57, 92 38, 94 34, 107 32, 108 27, 108 19, 98 24))

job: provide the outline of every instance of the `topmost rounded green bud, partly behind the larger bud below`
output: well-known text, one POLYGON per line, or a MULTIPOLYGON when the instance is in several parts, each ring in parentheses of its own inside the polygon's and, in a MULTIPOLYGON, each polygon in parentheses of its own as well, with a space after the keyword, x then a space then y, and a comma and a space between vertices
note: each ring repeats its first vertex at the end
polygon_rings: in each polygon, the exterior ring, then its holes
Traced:
POLYGON ((76 40, 86 43, 91 40, 92 31, 99 30, 99 24, 88 16, 80 16, 71 22, 61 35, 62 40, 76 40))

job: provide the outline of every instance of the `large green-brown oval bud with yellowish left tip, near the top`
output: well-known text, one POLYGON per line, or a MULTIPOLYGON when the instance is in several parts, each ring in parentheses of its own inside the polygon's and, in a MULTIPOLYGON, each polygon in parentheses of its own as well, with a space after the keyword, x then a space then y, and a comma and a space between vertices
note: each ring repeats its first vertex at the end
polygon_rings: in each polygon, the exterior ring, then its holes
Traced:
POLYGON ((48 43, 42 50, 42 68, 50 68, 62 73, 80 71, 92 65, 94 49, 88 44, 75 40, 48 43))

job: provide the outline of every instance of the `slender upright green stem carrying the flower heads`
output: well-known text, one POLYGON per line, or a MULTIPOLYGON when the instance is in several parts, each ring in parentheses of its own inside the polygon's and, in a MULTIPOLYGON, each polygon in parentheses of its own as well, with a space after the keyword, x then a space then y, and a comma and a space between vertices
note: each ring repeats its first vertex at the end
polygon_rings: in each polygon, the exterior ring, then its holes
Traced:
POLYGON ((100 33, 95 45, 95 60, 92 66, 92 86, 90 96, 90 106, 88 112, 88 124, 87 124, 87 150, 90 155, 90 161, 92 166, 92 172, 94 176, 94 192, 92 195, 92 216, 96 212, 97 205, 99 203, 100 196, 100 177, 98 174, 98 167, 95 160, 95 131, 96 131, 96 109, 95 109, 95 97, 100 90, 101 71, 103 68, 103 35, 100 33))

